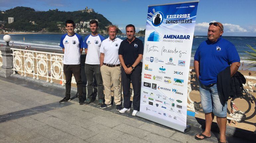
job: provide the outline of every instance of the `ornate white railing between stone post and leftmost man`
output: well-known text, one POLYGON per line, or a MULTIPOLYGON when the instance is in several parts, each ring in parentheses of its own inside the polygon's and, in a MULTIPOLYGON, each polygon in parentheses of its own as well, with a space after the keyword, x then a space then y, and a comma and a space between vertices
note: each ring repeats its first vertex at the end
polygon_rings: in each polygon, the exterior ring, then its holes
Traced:
MULTIPOLYGON (((11 50, 13 51, 13 74, 17 71, 21 73, 21 76, 33 75, 33 79, 42 78, 50 83, 54 83, 54 80, 62 81, 62 86, 64 86, 64 54, 16 48, 11 48, 11 50)), ((71 83, 76 83, 74 77, 71 83)))

